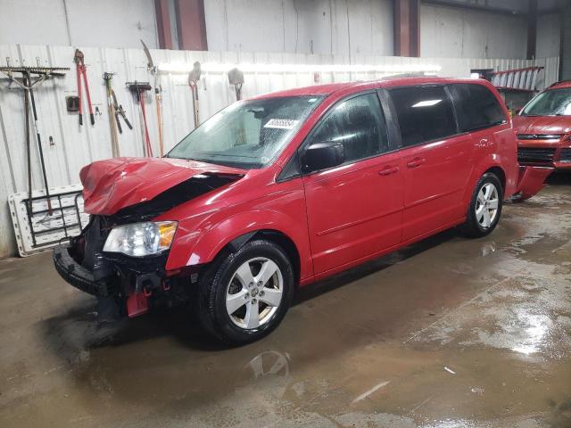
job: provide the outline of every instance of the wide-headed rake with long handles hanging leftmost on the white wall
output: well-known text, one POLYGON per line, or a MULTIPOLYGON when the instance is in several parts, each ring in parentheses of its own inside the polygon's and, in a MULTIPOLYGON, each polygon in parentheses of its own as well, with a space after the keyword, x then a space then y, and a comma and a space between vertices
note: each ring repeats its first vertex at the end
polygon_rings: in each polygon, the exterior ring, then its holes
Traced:
MULTIPOLYGON (((44 185, 46 187, 46 202, 47 202, 47 213, 52 215, 52 201, 50 197, 49 185, 47 183, 47 173, 46 173, 46 162, 44 159, 44 149, 42 147, 42 138, 39 132, 38 119, 37 119, 37 108, 36 99, 34 97, 34 87, 39 86, 47 78, 63 77, 65 73, 62 71, 70 70, 68 67, 42 67, 39 65, 39 60, 37 67, 24 67, 16 66, 12 67, 10 62, 5 67, 0 67, 0 71, 3 72, 9 79, 11 83, 15 83, 24 90, 24 114, 25 114, 25 124, 26 124, 26 148, 27 148, 27 166, 28 166, 28 192, 29 199, 31 201, 32 197, 32 170, 31 170, 31 141, 29 138, 29 107, 31 106, 32 118, 34 131, 36 132, 37 140, 37 150, 39 154, 39 163, 42 170, 42 178, 44 180, 44 185), (14 76, 15 73, 21 75, 20 80, 14 76), (37 78, 32 78, 32 76, 37 76, 37 78)), ((30 202, 31 203, 31 202, 30 202)))

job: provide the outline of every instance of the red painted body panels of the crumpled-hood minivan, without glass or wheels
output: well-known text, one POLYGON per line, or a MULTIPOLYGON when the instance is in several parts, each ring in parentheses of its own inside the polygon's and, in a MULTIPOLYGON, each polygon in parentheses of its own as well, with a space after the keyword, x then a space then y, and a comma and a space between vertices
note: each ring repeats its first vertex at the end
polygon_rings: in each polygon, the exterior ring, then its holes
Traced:
POLYGON ((492 128, 277 181, 310 130, 331 106, 347 95, 383 87, 449 83, 488 87, 509 118, 500 95, 490 83, 474 79, 395 78, 261 95, 326 94, 327 97, 277 161, 263 169, 231 169, 175 159, 121 158, 94 162, 81 171, 86 210, 111 215, 121 208, 150 200, 197 174, 241 174, 242 179, 155 218, 178 221, 165 268, 203 265, 236 237, 271 230, 294 243, 299 256, 300 283, 309 284, 461 224, 476 182, 489 169, 501 170, 506 198, 522 190, 522 186, 526 194, 537 187, 544 172, 534 173, 526 168, 520 173, 510 119, 492 128))

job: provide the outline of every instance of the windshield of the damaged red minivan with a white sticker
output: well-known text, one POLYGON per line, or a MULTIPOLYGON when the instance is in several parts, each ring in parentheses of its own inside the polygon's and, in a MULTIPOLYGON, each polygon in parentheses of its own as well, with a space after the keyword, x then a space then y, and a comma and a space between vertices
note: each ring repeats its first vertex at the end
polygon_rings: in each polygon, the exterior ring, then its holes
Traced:
POLYGON ((194 129, 167 154, 241 169, 274 161, 323 96, 282 96, 234 103, 194 129))

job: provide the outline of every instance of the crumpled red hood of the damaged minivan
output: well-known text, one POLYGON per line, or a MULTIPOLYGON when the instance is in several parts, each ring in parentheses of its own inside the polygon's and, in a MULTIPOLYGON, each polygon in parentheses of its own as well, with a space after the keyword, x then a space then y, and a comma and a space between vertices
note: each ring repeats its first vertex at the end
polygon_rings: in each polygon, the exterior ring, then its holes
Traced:
POLYGON ((179 159, 114 158, 87 165, 79 177, 85 211, 112 215, 200 174, 239 178, 244 170, 179 159))

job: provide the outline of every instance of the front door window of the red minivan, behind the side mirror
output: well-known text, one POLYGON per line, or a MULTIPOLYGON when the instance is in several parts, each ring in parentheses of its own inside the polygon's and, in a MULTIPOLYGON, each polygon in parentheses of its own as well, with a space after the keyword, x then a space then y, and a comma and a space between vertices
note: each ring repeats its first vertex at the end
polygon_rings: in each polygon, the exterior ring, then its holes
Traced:
POLYGON ((385 116, 377 94, 338 103, 319 124, 311 143, 343 144, 345 161, 357 161, 389 150, 385 116))

